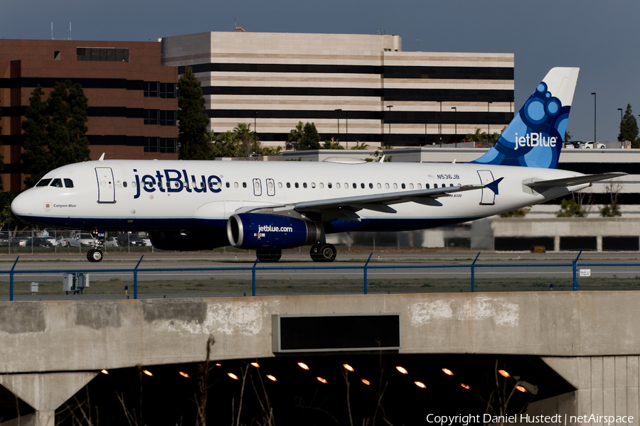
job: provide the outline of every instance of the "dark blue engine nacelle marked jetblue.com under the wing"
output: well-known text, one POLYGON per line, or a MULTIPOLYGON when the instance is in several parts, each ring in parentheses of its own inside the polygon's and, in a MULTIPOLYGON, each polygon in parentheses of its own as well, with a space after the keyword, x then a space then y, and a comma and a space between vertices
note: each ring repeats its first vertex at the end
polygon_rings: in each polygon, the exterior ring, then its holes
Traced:
POLYGON ((316 243, 320 235, 315 222, 277 214, 233 214, 227 222, 229 243, 238 249, 293 249, 316 243))

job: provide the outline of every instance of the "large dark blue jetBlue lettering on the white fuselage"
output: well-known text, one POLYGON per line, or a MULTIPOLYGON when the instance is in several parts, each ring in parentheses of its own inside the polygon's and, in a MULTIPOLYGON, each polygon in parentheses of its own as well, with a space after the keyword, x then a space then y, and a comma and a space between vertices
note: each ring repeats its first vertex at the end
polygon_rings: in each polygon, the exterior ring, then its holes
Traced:
POLYGON ((134 199, 140 197, 140 187, 146 192, 156 192, 156 190, 160 192, 182 192, 183 190, 186 190, 186 192, 207 192, 207 188, 210 192, 220 192, 222 190, 222 180, 216 175, 210 175, 207 178, 205 175, 200 175, 198 184, 196 175, 191 175, 191 180, 189 180, 186 170, 156 170, 155 175, 143 175, 142 178, 140 178, 137 169, 133 169, 133 171, 136 173, 136 195, 134 195, 134 199))

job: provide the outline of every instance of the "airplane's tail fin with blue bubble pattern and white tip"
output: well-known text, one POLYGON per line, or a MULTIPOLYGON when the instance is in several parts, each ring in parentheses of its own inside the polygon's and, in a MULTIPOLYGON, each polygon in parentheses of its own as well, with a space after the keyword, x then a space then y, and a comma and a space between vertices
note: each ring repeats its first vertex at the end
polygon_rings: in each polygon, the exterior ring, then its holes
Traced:
POLYGON ((471 163, 557 168, 579 68, 552 68, 498 141, 471 163))

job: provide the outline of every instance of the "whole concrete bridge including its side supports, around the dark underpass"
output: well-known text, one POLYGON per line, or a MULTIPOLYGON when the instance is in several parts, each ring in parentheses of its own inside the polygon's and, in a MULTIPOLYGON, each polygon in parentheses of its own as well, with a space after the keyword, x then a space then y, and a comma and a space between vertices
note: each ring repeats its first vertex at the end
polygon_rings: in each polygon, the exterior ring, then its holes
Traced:
POLYGON ((210 335, 213 359, 270 357, 273 315, 382 312, 400 313, 399 354, 541 356, 577 390, 529 413, 637 425, 639 307, 638 292, 605 291, 0 302, 0 405, 16 395, 36 410, 21 425, 53 426, 102 368, 204 361, 210 335))

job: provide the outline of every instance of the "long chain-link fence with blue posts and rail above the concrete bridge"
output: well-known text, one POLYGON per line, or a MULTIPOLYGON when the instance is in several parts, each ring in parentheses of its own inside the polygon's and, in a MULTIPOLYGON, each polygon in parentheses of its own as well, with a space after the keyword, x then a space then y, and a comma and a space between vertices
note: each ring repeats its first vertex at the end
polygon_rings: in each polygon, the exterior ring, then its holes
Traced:
MULTIPOLYGON (((580 252, 582 253, 582 251, 580 252)), ((365 263, 0 271, 0 300, 640 290, 640 263, 365 263)))

